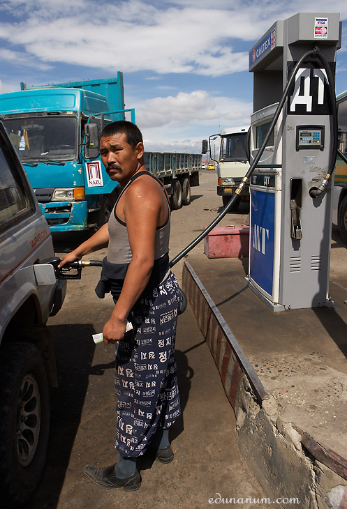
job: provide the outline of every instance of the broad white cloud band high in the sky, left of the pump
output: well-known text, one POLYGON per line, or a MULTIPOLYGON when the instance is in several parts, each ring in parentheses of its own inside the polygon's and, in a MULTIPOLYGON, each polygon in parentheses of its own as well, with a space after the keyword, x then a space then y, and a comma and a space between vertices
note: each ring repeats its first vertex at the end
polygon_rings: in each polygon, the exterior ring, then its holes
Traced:
MULTIPOLYGON (((17 24, 15 43, 43 62, 64 61, 113 71, 216 76, 246 69, 246 52, 232 52, 230 43, 219 43, 219 38, 226 36, 225 13, 212 13, 217 26, 224 24, 222 33, 210 29, 207 15, 211 17, 202 10, 170 9, 157 12, 155 24, 119 17, 105 22, 96 17, 90 22, 77 15, 45 22, 29 18, 17 24)), ((12 24, 0 24, 0 38, 11 43, 12 24)))

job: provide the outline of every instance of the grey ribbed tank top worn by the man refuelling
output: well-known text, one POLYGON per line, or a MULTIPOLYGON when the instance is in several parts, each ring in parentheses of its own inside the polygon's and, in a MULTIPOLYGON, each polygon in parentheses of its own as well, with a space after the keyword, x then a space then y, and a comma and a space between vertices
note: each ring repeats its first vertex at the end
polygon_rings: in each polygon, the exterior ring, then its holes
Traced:
MULTIPOLYGON (((133 254, 131 252, 131 247, 128 239, 128 230, 126 229, 126 223, 121 221, 116 214, 117 204, 121 195, 123 195, 124 191, 141 175, 148 175, 151 178, 154 178, 158 183, 160 183, 163 188, 163 192, 165 192, 165 188, 161 181, 150 174, 149 172, 139 172, 135 174, 131 180, 126 184, 124 190, 121 191, 115 207, 112 210, 110 215, 110 219, 108 220, 108 231, 109 231, 109 243, 108 243, 108 253, 107 260, 110 264, 117 265, 127 265, 130 264, 133 254)), ((165 192, 165 198, 168 202, 168 197, 165 192)), ((168 202, 168 220, 164 225, 161 225, 156 228, 156 239, 155 239, 155 247, 154 247, 154 260, 158 260, 161 257, 168 254, 169 251, 169 238, 170 238, 170 204, 168 202)))

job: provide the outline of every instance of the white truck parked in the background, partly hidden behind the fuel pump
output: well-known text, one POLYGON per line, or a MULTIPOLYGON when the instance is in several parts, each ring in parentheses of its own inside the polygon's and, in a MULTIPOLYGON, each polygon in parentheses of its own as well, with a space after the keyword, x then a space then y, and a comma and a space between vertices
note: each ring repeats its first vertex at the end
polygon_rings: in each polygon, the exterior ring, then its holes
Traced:
MULTIPOLYGON (((249 169, 246 155, 248 130, 249 126, 225 128, 220 134, 217 195, 222 197, 223 206, 228 204, 249 169)), ((232 206, 232 211, 237 211, 240 200, 249 202, 249 185, 244 187, 242 195, 232 206)))

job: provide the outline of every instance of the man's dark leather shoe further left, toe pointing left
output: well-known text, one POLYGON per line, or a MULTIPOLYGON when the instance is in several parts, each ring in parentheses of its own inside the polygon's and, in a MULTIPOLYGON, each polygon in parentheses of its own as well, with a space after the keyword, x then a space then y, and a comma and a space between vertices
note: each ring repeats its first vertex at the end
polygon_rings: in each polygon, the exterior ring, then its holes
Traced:
POLYGON ((98 486, 105 489, 121 488, 128 492, 135 492, 141 485, 140 473, 136 470, 130 477, 119 479, 115 474, 115 465, 112 466, 84 466, 84 473, 98 486))

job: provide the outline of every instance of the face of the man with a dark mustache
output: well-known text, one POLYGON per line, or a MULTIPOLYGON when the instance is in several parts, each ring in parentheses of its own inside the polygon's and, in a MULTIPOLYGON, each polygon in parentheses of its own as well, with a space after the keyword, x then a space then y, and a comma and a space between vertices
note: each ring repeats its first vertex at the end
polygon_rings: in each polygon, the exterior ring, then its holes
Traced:
POLYGON ((100 139, 100 155, 106 172, 112 181, 117 181, 121 185, 128 183, 135 174, 142 154, 142 143, 138 143, 135 149, 132 149, 124 132, 102 136, 100 139))

